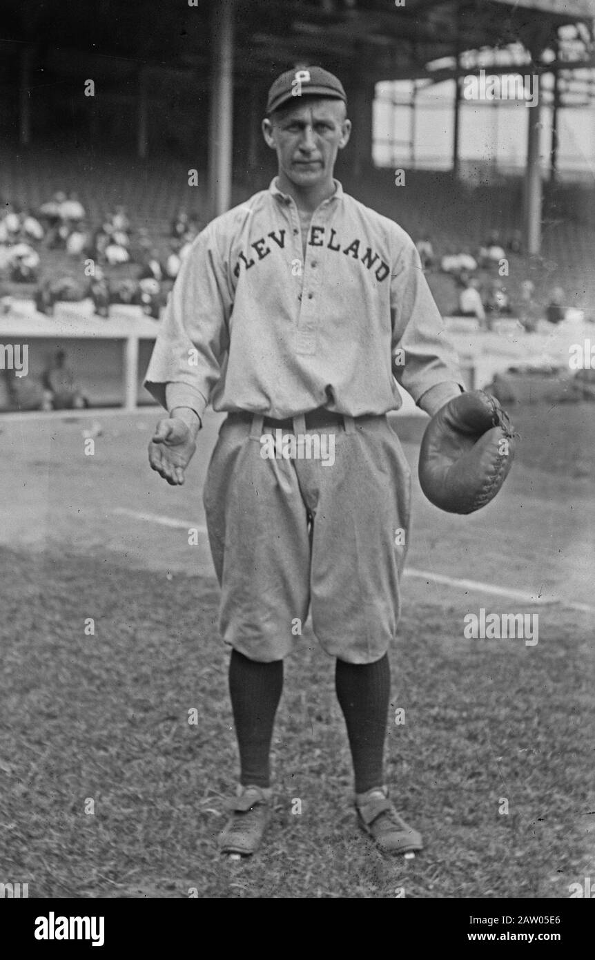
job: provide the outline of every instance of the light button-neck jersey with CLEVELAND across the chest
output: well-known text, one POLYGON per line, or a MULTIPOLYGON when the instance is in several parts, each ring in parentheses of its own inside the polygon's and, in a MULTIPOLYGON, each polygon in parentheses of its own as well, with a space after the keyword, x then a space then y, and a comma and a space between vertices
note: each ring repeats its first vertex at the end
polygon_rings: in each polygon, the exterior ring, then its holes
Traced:
POLYGON ((275 179, 195 240, 145 386, 167 406, 175 385, 175 405, 200 417, 210 401, 284 419, 383 415, 400 407, 399 384, 417 402, 444 382, 459 391, 457 358, 411 237, 335 180, 302 247, 275 179))

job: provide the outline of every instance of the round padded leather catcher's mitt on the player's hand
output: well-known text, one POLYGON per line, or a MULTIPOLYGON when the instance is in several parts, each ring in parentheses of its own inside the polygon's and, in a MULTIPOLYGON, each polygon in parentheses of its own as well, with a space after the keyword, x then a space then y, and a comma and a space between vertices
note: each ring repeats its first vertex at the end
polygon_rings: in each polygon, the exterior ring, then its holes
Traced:
POLYGON ((495 396, 455 396, 428 423, 419 449, 419 483, 449 514, 472 514, 496 495, 512 467, 515 434, 495 396))

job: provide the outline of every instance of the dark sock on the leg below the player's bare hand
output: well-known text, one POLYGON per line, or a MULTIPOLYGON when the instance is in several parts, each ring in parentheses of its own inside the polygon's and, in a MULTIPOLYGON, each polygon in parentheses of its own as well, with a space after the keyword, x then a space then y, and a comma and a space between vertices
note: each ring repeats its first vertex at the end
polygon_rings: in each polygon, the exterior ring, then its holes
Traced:
POLYGON ((240 749, 240 783, 270 785, 274 714, 283 689, 283 660, 259 663, 237 650, 229 660, 229 693, 240 749))

